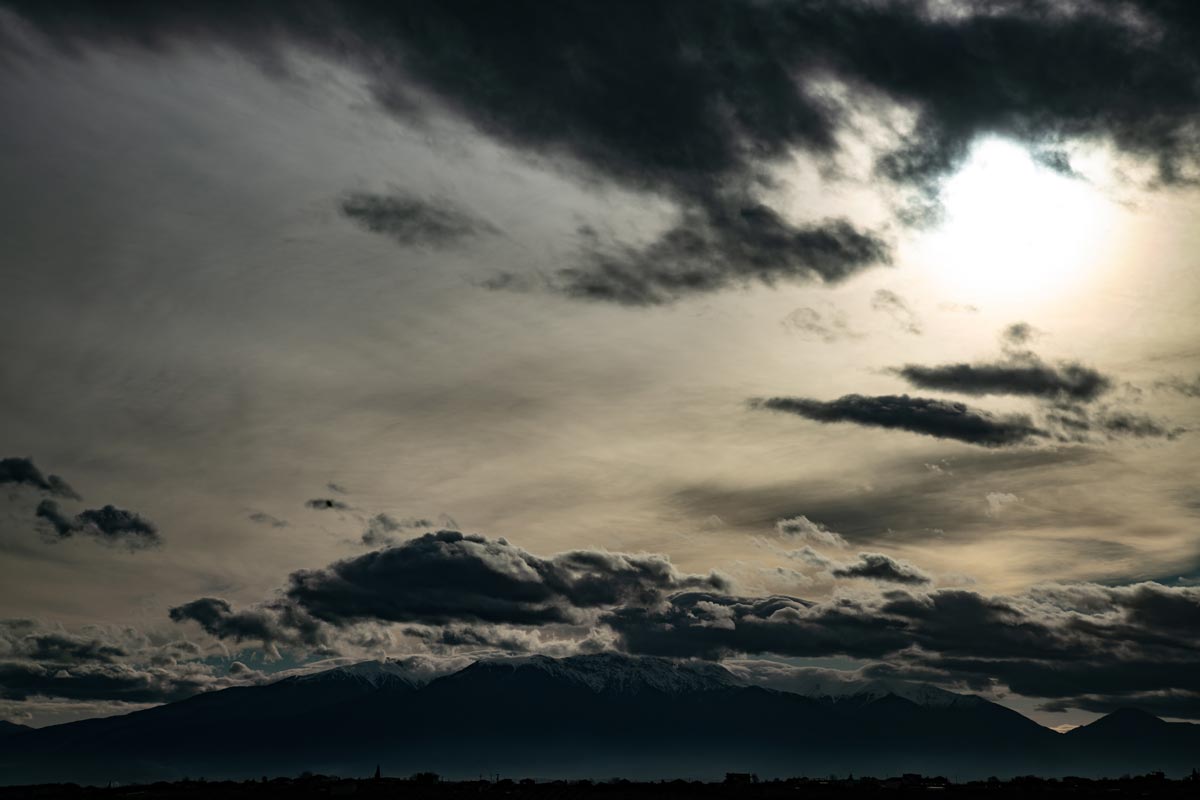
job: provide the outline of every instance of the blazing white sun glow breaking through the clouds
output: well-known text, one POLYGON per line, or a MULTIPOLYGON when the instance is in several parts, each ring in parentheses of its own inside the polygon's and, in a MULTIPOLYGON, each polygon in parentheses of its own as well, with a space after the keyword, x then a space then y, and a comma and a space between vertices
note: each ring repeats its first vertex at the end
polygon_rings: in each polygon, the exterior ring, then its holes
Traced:
POLYGON ((946 288, 978 300, 1057 294, 1103 254, 1115 209, 1086 179, 989 139, 942 190, 946 217, 922 257, 946 288))

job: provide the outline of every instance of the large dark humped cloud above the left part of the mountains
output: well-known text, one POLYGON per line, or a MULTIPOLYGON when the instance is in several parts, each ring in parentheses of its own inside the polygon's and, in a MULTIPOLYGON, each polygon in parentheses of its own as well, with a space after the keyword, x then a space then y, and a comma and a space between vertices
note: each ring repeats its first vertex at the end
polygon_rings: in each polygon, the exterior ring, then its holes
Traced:
POLYGON ((170 609, 170 618, 194 621, 220 639, 324 648, 338 630, 365 624, 466 625, 456 630, 476 633, 488 625, 575 625, 606 608, 727 585, 715 572, 679 573, 658 554, 569 551, 541 558, 503 539, 440 530, 294 572, 280 599, 257 607, 235 610, 226 600, 200 597, 170 609))

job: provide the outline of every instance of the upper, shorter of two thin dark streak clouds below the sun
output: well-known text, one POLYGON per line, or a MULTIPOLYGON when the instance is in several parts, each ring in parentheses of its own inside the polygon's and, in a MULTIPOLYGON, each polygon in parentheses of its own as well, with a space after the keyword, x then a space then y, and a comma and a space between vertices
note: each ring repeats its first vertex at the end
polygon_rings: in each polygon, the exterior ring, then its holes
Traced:
POLYGON ((991 363, 908 363, 893 372, 918 389, 961 395, 1022 395, 1043 399, 1091 402, 1112 387, 1112 379, 1081 363, 1044 363, 1037 357, 991 363))

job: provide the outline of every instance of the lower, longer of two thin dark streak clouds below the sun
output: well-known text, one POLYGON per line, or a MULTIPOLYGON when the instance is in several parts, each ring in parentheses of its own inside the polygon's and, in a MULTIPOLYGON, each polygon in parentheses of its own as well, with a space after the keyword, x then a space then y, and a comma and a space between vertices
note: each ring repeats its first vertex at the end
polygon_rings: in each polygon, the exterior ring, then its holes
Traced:
POLYGON ((938 439, 955 439, 984 447, 1026 444, 1049 435, 1022 414, 1004 416, 973 409, 964 403, 884 395, 845 395, 834 401, 806 397, 770 397, 751 401, 752 408, 796 414, 822 423, 852 422, 868 427, 911 431, 938 439))

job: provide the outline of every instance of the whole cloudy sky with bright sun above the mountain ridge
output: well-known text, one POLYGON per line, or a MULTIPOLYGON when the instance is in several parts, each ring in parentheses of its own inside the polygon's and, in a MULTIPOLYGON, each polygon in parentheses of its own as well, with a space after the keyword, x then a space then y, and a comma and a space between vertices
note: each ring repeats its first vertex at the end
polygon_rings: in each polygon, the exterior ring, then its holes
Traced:
POLYGON ((1200 720, 1198 37, 0 1, 0 718, 614 650, 1200 720))

